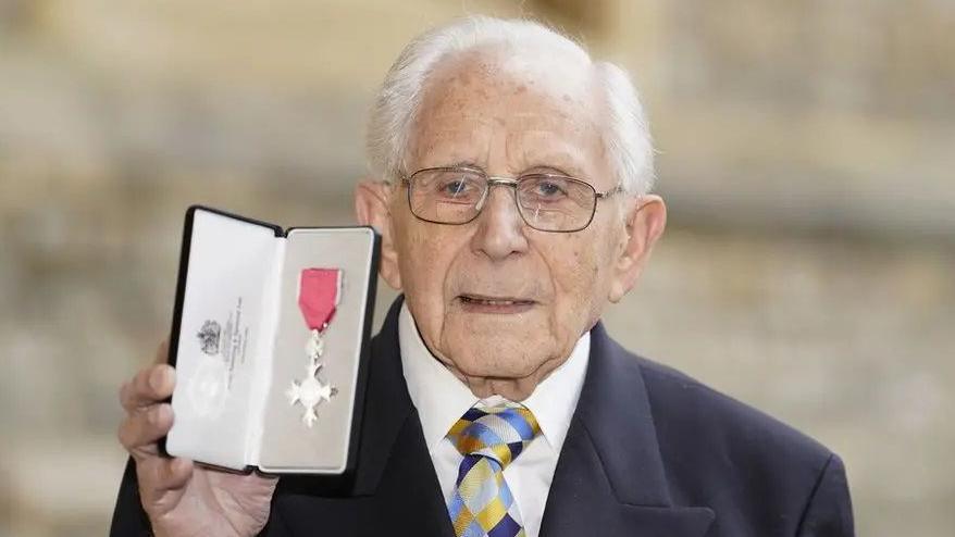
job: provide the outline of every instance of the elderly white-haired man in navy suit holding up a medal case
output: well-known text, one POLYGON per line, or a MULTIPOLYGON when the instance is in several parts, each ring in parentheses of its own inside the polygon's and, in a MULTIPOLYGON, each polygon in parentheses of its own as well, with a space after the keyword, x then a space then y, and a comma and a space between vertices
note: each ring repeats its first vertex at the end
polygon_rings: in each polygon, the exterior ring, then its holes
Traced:
POLYGON ((369 151, 356 210, 404 298, 372 344, 355 474, 160 457, 175 379, 153 365, 121 395, 113 535, 853 535, 835 454, 599 323, 666 223, 620 68, 532 22, 467 18, 405 49, 369 151))

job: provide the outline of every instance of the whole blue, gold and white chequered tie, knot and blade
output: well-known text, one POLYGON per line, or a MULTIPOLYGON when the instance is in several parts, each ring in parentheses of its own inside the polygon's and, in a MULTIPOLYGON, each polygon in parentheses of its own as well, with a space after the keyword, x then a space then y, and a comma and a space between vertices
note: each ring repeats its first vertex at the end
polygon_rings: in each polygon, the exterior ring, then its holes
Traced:
POLYGON ((448 513, 457 537, 524 537, 504 469, 541 433, 524 407, 471 408, 448 438, 464 455, 448 513))

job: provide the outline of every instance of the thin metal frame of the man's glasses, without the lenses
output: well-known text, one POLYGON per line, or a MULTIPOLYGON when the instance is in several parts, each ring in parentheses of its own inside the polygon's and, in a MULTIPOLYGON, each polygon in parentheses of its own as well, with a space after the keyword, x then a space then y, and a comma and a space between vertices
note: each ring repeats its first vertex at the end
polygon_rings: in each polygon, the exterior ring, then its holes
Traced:
POLYGON ((485 173, 481 168, 469 167, 469 166, 423 167, 421 170, 416 171, 414 173, 412 173, 410 175, 402 175, 401 176, 401 185, 407 187, 407 189, 408 189, 408 195, 407 195, 408 209, 411 210, 411 214, 413 214, 416 218, 423 221, 423 222, 430 222, 432 224, 442 224, 442 225, 447 225, 447 226, 462 226, 464 224, 470 224, 471 222, 474 222, 478 218, 478 216, 481 216, 481 213, 484 211, 484 202, 486 201, 487 197, 491 195, 491 189, 493 187, 495 187, 495 186, 510 187, 512 190, 511 198, 513 198, 513 200, 514 200, 514 205, 517 205, 517 208, 518 208, 518 214, 521 215, 521 220, 523 220, 524 224, 526 224, 532 229, 536 229, 538 232, 544 232, 544 233, 576 233, 576 232, 581 232, 583 229, 586 229, 587 226, 591 225, 591 222, 594 221, 594 215, 597 213, 597 202, 599 200, 603 200, 605 198, 609 198, 611 196, 616 196, 616 195, 623 191, 623 186, 618 184, 616 187, 611 188, 610 190, 599 192, 590 183, 587 183, 583 179, 579 179, 576 177, 571 177, 569 175, 548 174, 548 173, 529 173, 529 174, 522 174, 518 177, 506 177, 506 176, 501 176, 501 175, 488 175, 487 173, 485 173), (487 187, 484 189, 484 192, 481 195, 481 199, 478 200, 476 203, 474 203, 474 207, 478 209, 478 211, 474 213, 474 215, 464 222, 441 222, 441 221, 436 221, 436 220, 425 218, 425 217, 419 215, 417 212, 414 212, 414 204, 411 203, 411 187, 412 187, 411 182, 414 179, 416 175, 418 175, 422 172, 471 172, 471 173, 475 173, 475 174, 479 174, 482 177, 484 177, 484 179, 487 182, 487 187), (518 185, 522 180, 525 180, 528 177, 554 177, 554 178, 558 178, 561 180, 570 180, 573 183, 578 183, 580 185, 584 185, 585 187, 587 187, 594 193, 594 205, 591 209, 591 214, 587 217, 586 223, 584 225, 576 227, 576 228, 573 228, 573 229, 542 229, 539 227, 534 226, 530 222, 528 222, 528 217, 524 216, 524 210, 521 209, 521 204, 520 204, 520 202, 518 202, 518 185))

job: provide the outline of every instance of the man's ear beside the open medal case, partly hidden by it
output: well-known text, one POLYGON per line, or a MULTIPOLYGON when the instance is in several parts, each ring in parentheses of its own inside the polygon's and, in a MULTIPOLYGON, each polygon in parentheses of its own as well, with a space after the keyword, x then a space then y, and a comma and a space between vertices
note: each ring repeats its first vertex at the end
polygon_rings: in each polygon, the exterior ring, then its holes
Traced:
POLYGON ((355 215, 358 223, 372 226, 382 236, 382 258, 379 274, 395 290, 401 289, 398 251, 392 228, 392 185, 377 180, 362 180, 355 188, 355 215))

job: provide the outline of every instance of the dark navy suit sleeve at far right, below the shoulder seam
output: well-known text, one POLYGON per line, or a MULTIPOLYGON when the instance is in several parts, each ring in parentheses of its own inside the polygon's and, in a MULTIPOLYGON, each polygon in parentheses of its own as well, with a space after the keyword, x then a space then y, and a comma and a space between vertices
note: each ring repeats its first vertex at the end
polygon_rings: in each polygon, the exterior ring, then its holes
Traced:
POLYGON ((845 466, 836 454, 829 458, 799 523, 797 537, 854 537, 852 499, 845 466))

